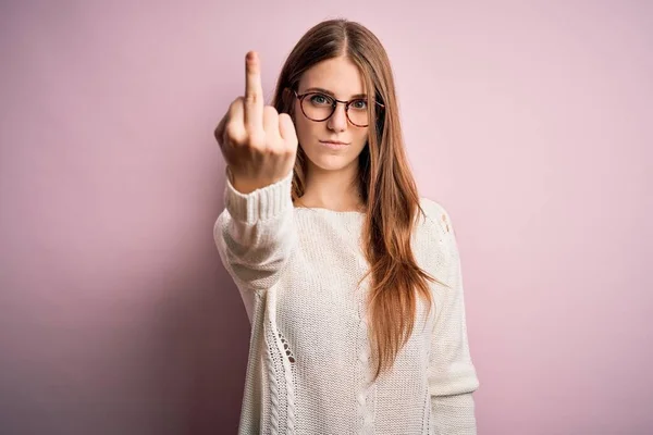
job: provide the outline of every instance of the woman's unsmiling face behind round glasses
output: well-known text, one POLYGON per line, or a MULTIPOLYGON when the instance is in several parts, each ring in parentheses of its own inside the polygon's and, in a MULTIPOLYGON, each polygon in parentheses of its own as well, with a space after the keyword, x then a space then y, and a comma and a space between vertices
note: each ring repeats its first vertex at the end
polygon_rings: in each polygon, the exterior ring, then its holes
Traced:
MULTIPOLYGON (((331 92, 341 101, 360 98, 365 95, 365 85, 358 67, 347 58, 334 58, 322 61, 311 69, 307 70, 301 79, 297 94, 303 95, 307 91, 321 89, 325 95, 331 92), (324 92, 329 91, 329 92, 324 92)), ((305 108, 308 104, 315 104, 316 110, 326 110, 324 105, 326 99, 320 96, 308 96, 305 99, 305 108), (312 99, 313 102, 309 100, 312 99)), ((352 104, 349 115, 357 124, 354 114, 355 111, 362 112, 365 104, 352 104)), ((294 107, 295 128, 299 146, 306 152, 311 165, 318 166, 324 171, 337 171, 357 164, 358 154, 366 146, 368 138, 368 127, 358 127, 352 124, 345 113, 345 104, 337 103, 335 112, 330 119, 323 122, 315 122, 306 117, 299 105, 299 99, 295 100, 294 107), (329 146, 324 144, 328 140, 343 141, 344 146, 329 146)))

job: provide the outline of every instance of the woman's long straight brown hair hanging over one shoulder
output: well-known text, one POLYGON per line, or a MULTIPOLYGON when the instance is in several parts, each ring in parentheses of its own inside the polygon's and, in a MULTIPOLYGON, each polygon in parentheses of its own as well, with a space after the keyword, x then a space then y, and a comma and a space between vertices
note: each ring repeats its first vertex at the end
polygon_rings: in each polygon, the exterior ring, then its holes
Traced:
MULTIPOLYGON (((362 227, 365 257, 370 264, 362 281, 371 274, 369 294, 370 340, 377 363, 374 380, 390 369, 410 337, 416 318, 416 291, 428 302, 432 297, 428 281, 410 246, 419 195, 406 158, 390 60, 379 39, 365 26, 345 18, 328 20, 310 28, 286 59, 279 76, 272 104, 293 116, 294 94, 305 71, 337 57, 347 57, 359 69, 368 98, 384 104, 368 104, 368 144, 359 157, 359 192, 367 208, 362 227), (374 353, 375 351, 375 353, 374 353)), ((292 196, 305 190, 307 157, 297 149, 292 196)))

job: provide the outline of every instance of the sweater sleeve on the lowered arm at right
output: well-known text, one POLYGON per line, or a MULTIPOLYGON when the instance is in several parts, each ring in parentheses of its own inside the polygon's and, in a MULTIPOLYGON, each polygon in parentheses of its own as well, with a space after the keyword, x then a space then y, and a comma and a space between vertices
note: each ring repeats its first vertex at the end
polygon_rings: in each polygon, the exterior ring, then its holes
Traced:
MULTIPOLYGON (((438 434, 476 435, 472 393, 479 381, 471 361, 465 318, 460 254, 447 211, 438 204, 432 216, 440 228, 448 272, 431 344, 429 391, 438 434)), ((444 279, 443 279, 444 281, 444 279)))

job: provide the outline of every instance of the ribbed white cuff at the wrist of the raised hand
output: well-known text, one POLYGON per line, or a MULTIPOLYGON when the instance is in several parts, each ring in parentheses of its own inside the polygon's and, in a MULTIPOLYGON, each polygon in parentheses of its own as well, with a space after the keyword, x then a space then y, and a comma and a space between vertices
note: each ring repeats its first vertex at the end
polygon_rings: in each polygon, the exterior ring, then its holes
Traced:
POLYGON ((234 188, 227 176, 224 206, 232 217, 248 224, 273 219, 293 207, 292 185, 293 171, 279 182, 245 195, 234 188))

